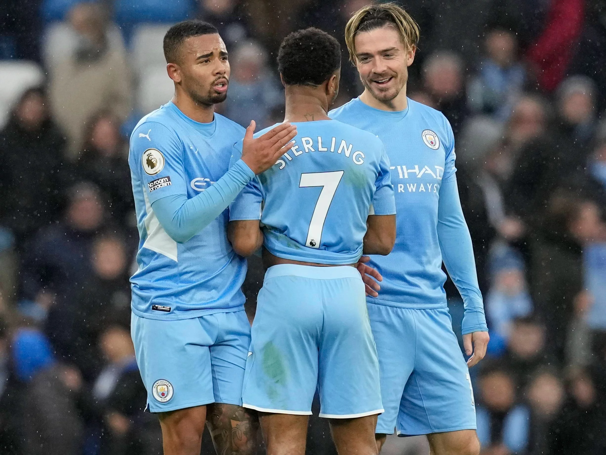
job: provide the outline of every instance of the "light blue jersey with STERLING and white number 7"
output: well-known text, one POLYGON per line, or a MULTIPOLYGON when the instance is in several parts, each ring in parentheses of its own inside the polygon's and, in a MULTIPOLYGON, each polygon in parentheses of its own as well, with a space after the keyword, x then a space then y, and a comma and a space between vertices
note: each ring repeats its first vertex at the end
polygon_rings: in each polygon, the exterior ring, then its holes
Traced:
MULTIPOLYGON (((230 206, 230 219, 260 219, 264 246, 278 257, 355 263, 368 214, 395 214, 385 147, 374 134, 339 121, 293 124, 295 145, 242 190, 230 206)), ((241 150, 239 142, 232 162, 241 150)))

